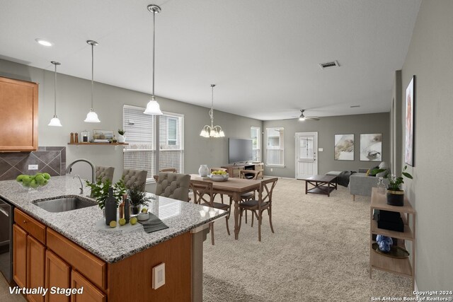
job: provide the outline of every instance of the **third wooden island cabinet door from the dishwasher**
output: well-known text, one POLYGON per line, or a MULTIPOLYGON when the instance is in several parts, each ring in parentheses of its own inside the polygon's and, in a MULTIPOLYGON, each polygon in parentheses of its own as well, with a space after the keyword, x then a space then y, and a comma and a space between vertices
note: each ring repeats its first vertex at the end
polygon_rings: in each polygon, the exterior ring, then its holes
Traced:
MULTIPOLYGON (((69 289, 71 287, 71 267, 67 265, 60 257, 50 250, 45 252, 45 288, 50 289, 52 286, 60 289, 69 289)), ((70 296, 62 294, 45 295, 46 302, 69 302, 70 296)))

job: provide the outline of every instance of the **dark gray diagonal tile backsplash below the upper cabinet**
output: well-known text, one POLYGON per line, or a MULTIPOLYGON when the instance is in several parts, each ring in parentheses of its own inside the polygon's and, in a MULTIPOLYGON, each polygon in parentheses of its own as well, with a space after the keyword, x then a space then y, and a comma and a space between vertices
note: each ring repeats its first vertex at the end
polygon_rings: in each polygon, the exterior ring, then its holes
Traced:
POLYGON ((65 175, 66 147, 38 147, 32 152, 0 153, 0 180, 13 180, 18 175, 49 173, 51 176, 65 175), (38 165, 38 170, 28 170, 28 165, 38 165))

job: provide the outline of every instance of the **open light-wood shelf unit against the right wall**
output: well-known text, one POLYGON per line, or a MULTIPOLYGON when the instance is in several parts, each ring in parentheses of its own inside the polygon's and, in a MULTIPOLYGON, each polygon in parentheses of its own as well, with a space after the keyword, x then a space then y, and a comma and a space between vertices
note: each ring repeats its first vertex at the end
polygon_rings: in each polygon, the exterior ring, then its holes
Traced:
MULTIPOLYGON (((415 210, 411 207, 406 196, 404 197, 403 207, 395 207, 387 204, 386 194, 379 194, 377 187, 372 188, 371 193, 371 205, 370 205, 370 240, 369 240, 369 277, 372 277, 372 269, 379 269, 385 272, 391 272, 412 278, 412 286, 415 285, 415 210), (373 220, 374 210, 394 211, 399 212, 404 221, 404 231, 390 231, 384 228, 377 227, 377 221, 373 220), (412 221, 411 226, 409 221, 412 221), (394 258, 387 257, 378 252, 375 252, 372 248, 372 244, 375 243, 373 235, 384 235, 391 238, 397 238, 403 240, 412 241, 412 261, 409 257, 406 258, 394 258)), ((399 242, 400 240, 398 240, 399 242)), ((403 248, 406 248, 403 246, 403 248)))

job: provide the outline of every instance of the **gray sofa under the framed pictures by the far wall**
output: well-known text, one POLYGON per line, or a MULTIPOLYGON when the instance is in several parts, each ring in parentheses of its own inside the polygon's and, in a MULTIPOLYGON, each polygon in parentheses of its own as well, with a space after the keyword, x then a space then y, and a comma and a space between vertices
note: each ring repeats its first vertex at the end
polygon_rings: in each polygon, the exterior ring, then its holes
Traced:
MULTIPOLYGON (((371 169, 359 169, 359 172, 352 173, 349 178, 349 192, 352 194, 352 200, 355 200, 355 195, 360 196, 371 196, 372 187, 377 186, 377 182, 379 177, 384 177, 387 173, 389 173, 389 166, 383 161, 379 163, 379 169, 385 169, 385 171, 381 173, 377 173, 377 175, 372 176, 369 175, 369 170, 373 170, 376 167, 371 169)), ((389 184, 387 179, 384 179, 386 185, 389 184)))

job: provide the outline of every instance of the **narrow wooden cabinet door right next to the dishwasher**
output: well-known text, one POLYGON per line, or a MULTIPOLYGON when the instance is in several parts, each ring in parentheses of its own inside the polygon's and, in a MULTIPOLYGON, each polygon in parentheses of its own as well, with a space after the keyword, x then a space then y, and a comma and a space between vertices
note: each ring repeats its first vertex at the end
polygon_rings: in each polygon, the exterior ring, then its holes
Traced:
POLYGON ((13 225, 13 279, 19 287, 27 286, 27 232, 13 225))

